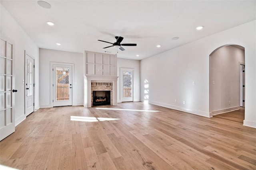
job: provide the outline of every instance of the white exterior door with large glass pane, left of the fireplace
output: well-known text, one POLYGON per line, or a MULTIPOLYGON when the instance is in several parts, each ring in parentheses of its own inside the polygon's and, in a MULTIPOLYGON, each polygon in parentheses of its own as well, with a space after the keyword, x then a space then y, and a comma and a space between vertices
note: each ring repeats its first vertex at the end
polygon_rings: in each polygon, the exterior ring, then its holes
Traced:
POLYGON ((72 106, 72 65, 53 64, 53 106, 72 106))

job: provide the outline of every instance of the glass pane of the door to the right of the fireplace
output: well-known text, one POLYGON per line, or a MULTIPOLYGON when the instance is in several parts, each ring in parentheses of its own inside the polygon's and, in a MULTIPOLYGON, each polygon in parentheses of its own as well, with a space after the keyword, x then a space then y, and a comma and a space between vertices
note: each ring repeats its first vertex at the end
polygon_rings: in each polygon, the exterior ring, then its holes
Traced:
POLYGON ((132 97, 132 72, 123 71, 123 97, 132 97))

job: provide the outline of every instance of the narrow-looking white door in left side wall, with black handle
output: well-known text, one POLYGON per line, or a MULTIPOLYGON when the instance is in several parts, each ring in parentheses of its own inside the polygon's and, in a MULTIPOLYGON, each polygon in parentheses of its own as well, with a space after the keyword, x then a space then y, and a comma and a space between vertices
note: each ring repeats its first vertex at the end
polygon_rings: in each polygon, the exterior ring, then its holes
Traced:
POLYGON ((25 115, 34 111, 34 59, 25 51, 25 115))

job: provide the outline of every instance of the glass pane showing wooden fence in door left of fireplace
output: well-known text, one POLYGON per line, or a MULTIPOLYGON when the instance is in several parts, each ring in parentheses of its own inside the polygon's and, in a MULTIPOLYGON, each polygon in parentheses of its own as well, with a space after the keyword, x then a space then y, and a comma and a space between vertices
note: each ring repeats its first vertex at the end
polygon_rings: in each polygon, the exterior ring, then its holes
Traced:
POLYGON ((56 101, 69 100, 69 68, 56 67, 56 101))

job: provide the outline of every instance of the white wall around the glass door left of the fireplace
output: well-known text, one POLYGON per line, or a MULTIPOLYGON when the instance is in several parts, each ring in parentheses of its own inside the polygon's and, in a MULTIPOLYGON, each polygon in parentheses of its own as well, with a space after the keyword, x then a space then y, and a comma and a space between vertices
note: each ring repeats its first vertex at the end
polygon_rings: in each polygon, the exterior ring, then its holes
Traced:
POLYGON ((39 49, 40 55, 40 107, 52 107, 50 88, 50 62, 74 64, 73 106, 84 104, 84 54, 66 51, 39 49))

